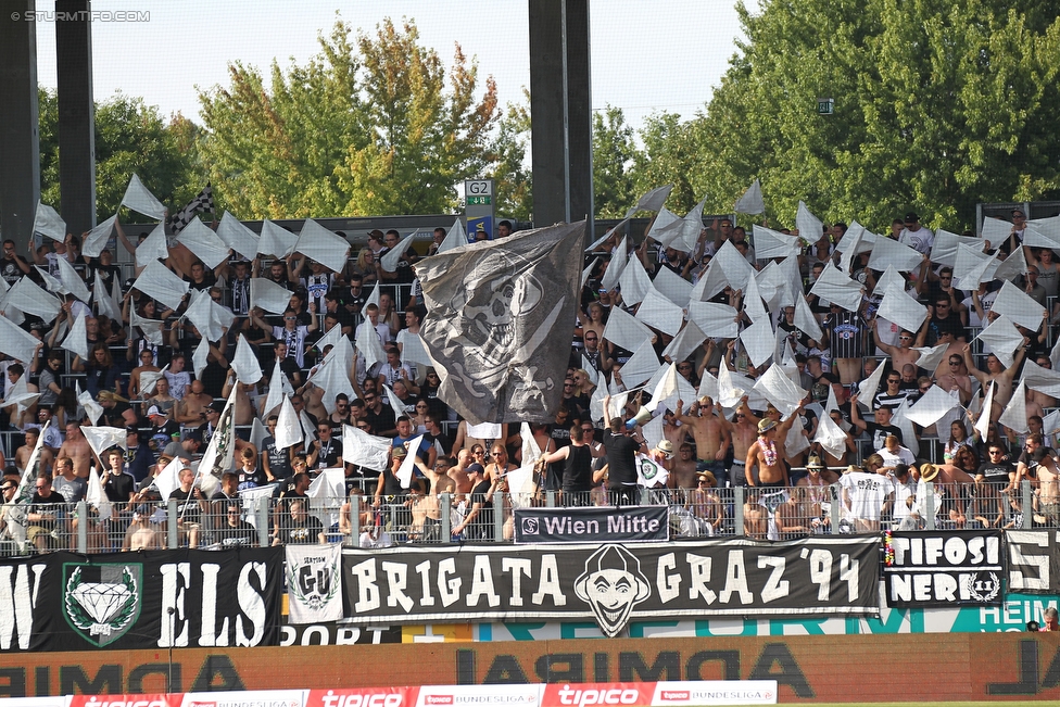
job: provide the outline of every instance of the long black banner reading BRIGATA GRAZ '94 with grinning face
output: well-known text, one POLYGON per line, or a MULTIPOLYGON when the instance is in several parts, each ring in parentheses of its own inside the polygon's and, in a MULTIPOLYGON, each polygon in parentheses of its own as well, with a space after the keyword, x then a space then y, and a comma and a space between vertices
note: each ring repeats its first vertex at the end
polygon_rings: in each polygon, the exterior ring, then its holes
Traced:
POLYGON ((387 621, 878 615, 880 541, 343 551, 344 615, 387 621))

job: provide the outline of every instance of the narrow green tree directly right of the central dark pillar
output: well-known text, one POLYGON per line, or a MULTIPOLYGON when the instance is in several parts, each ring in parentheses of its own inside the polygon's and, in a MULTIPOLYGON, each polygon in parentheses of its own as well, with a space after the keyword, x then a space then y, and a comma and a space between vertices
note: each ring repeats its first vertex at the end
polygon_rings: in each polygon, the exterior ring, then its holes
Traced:
POLYGON ((622 109, 593 113, 593 201, 598 218, 621 218, 636 200, 629 172, 636 147, 622 109))

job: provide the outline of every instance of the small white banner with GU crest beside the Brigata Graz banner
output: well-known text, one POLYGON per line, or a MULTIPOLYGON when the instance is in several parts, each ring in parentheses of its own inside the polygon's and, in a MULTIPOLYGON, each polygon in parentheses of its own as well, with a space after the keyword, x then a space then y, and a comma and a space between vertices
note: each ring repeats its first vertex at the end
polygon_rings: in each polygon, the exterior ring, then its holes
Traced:
POLYGON ((325 623, 342 618, 342 546, 288 545, 288 621, 325 623))

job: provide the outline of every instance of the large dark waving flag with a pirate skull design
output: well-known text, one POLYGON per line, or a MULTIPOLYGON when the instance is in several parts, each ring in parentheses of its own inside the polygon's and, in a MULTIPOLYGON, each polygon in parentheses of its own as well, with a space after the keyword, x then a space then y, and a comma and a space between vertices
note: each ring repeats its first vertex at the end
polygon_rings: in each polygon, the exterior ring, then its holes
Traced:
POLYGON ((420 337, 442 373, 438 396, 472 424, 548 422, 563 395, 585 222, 432 255, 416 266, 420 337))

